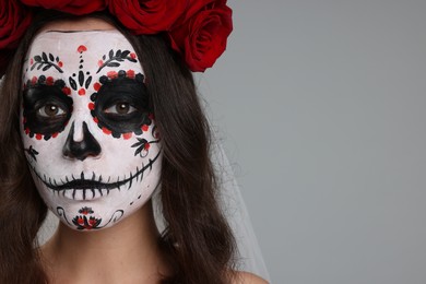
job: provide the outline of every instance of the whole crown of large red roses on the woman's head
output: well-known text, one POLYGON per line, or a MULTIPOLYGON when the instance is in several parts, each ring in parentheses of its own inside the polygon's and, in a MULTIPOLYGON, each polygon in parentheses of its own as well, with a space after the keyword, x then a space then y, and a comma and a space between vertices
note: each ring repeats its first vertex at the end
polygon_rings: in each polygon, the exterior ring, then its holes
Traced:
POLYGON ((214 64, 233 31, 226 0, 0 0, 0 78, 33 20, 33 7, 74 15, 108 10, 134 35, 165 33, 193 72, 214 64))

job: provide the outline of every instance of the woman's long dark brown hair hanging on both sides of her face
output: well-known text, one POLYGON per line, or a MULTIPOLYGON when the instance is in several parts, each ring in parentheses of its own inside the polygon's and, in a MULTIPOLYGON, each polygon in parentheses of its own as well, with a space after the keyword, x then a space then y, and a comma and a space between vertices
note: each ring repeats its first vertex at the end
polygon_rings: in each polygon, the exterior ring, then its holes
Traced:
MULTIPOLYGON (((159 246, 173 275, 164 283, 227 283, 235 241, 216 201, 210 129, 192 73, 162 35, 134 36, 107 14, 143 63, 162 135, 161 201, 166 222, 159 246)), ((67 14, 40 12, 23 37, 0 90, 0 283, 47 283, 36 242, 46 205, 31 178, 20 137, 22 66, 34 35, 67 14)))

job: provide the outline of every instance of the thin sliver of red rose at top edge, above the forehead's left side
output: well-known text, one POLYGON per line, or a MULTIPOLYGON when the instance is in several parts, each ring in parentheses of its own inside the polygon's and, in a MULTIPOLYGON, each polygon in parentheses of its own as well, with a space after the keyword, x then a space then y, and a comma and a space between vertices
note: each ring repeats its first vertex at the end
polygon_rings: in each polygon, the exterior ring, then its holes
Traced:
POLYGON ((21 2, 74 15, 90 14, 104 10, 106 7, 105 0, 21 0, 21 2))

